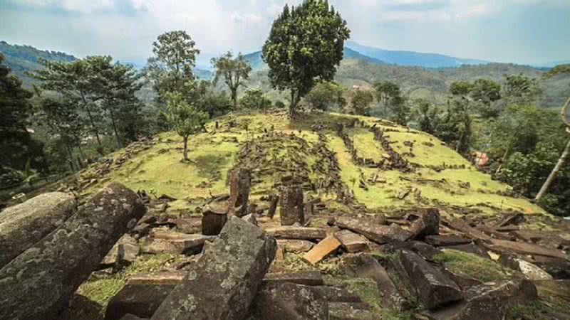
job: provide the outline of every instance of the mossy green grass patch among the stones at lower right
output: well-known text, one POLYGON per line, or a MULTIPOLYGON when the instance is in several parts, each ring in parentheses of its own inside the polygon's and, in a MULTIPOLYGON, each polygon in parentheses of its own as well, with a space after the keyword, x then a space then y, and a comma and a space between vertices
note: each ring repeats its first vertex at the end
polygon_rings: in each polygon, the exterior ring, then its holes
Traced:
POLYGON ((497 262, 467 252, 446 249, 434 259, 442 262, 451 272, 461 272, 482 282, 497 281, 508 276, 497 262))

